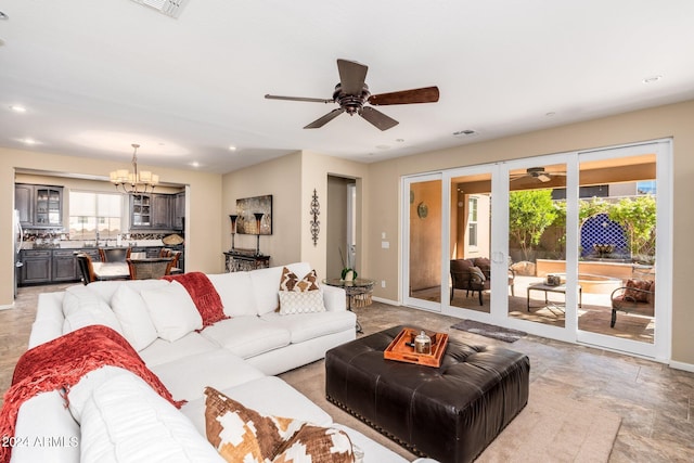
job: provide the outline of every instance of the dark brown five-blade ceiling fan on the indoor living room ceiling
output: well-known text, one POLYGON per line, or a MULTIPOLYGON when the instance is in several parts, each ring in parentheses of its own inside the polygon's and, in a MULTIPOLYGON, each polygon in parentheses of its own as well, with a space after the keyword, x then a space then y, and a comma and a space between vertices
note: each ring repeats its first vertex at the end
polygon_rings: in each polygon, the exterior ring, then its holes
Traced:
POLYGON ((331 111, 322 117, 313 120, 305 129, 318 129, 333 120, 343 113, 350 116, 360 115, 381 130, 388 130, 398 125, 398 121, 386 116, 371 106, 388 104, 435 103, 438 101, 438 87, 425 87, 413 90, 402 90, 390 93, 371 94, 369 86, 364 82, 368 66, 348 60, 337 60, 339 82, 335 86, 332 99, 281 97, 266 94, 268 100, 305 101, 309 103, 337 103, 339 107, 331 111))

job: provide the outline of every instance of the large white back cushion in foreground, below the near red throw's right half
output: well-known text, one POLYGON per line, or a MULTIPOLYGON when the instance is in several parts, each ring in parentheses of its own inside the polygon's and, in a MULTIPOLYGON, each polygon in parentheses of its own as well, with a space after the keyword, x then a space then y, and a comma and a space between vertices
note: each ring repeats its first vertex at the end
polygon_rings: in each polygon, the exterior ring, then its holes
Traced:
POLYGON ((82 462, 222 461, 193 424, 136 375, 97 387, 85 403, 82 462))

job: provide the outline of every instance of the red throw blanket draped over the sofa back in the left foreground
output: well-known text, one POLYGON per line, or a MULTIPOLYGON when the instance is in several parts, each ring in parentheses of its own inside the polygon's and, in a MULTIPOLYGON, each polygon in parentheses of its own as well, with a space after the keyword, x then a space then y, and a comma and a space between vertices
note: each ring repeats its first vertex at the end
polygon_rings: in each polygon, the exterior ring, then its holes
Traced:
MULTIPOLYGON (((14 436, 17 413, 24 401, 56 389, 69 390, 82 375, 100 366, 129 370, 144 380, 159 396, 181 408, 159 378, 150 371, 138 352, 118 333, 103 325, 85 326, 27 350, 14 369, 12 386, 4 394, 0 412, 0 437, 14 436)), ((67 396, 65 395, 67 401, 67 396)), ((11 447, 0 446, 0 462, 10 461, 11 447)))

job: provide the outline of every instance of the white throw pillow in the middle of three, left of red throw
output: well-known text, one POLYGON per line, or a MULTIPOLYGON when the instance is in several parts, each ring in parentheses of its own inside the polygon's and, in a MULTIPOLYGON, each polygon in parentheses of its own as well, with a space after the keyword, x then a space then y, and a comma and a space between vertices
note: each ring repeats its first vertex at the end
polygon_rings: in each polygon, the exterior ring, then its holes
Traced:
POLYGON ((123 327, 123 336, 137 351, 154 343, 156 327, 140 294, 127 284, 118 285, 111 299, 111 308, 123 327))

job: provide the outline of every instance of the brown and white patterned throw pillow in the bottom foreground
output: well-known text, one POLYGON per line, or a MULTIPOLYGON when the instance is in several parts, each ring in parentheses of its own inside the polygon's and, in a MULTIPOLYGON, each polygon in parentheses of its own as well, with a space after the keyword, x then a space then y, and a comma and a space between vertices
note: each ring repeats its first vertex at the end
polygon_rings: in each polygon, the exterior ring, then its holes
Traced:
POLYGON ((354 462, 349 437, 339 429, 264 415, 213 387, 205 388, 207 440, 228 462, 354 462))

